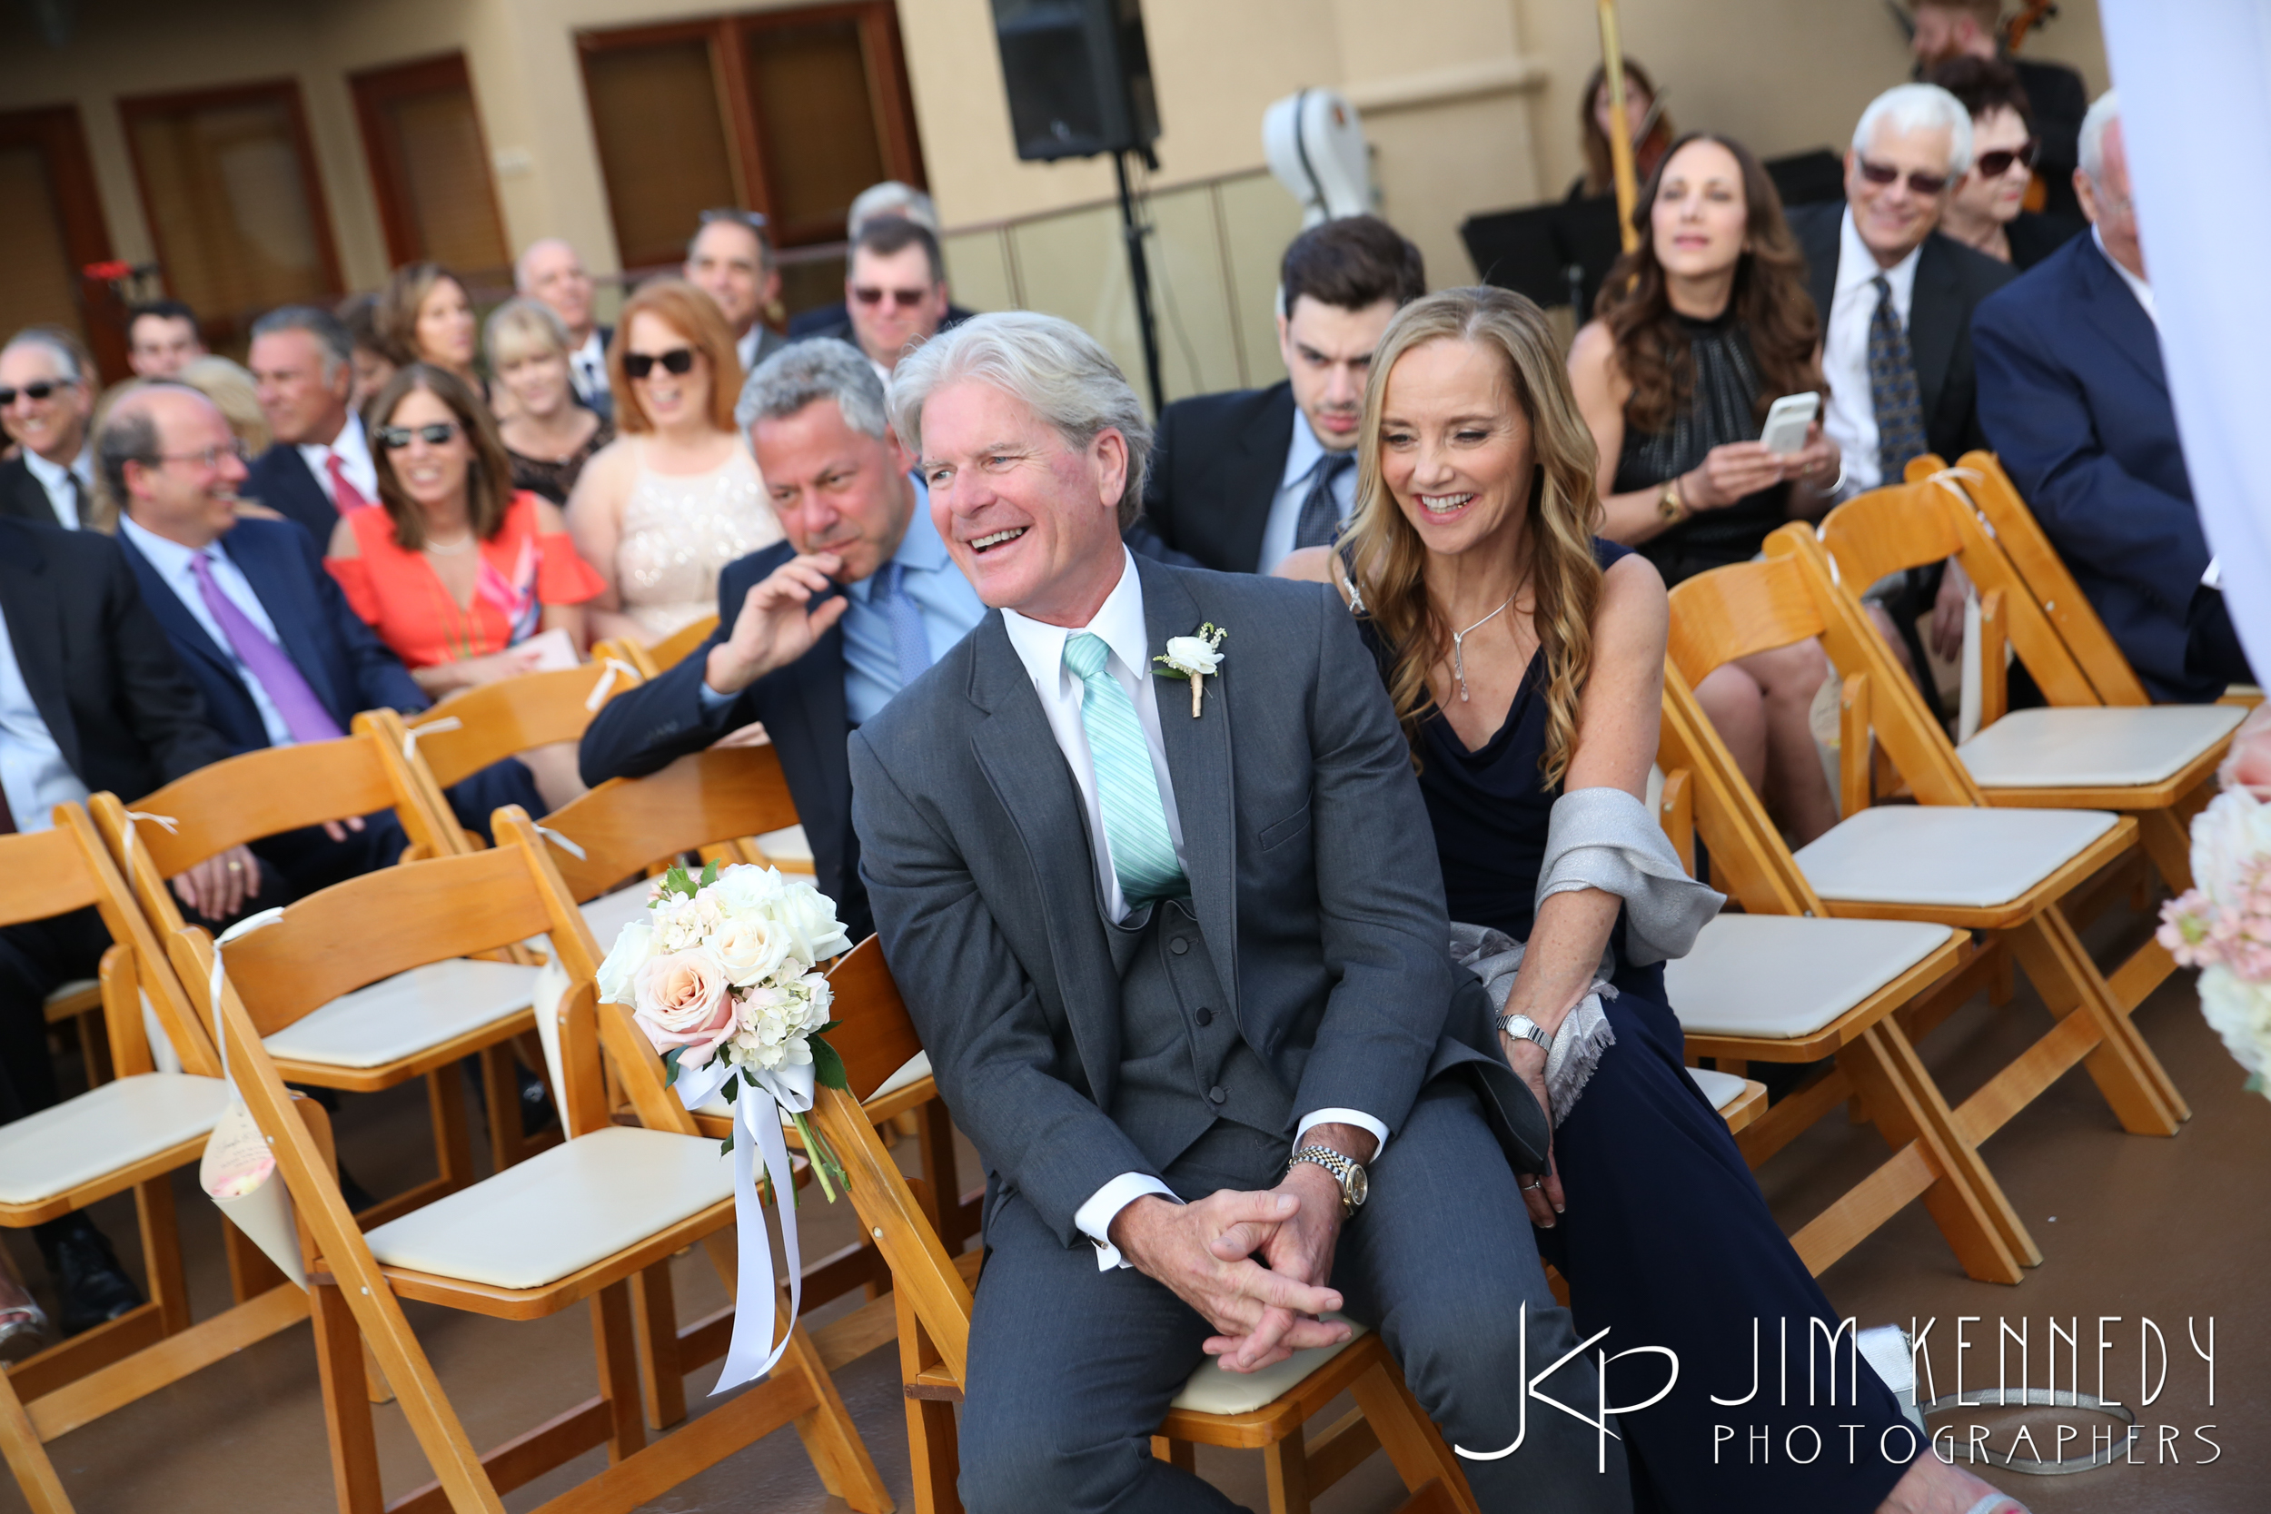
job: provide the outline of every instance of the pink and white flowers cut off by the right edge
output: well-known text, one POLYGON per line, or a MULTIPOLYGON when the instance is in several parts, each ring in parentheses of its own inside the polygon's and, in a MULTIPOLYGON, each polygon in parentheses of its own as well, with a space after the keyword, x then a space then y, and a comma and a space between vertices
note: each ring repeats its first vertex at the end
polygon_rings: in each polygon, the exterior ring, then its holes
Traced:
MULTIPOLYGON (((2266 706, 2271 708, 2271 706, 2266 706)), ((2201 969, 2201 1012, 2271 1096, 2271 713, 2232 738, 2223 792, 2192 822, 2194 888, 2162 906, 2160 944, 2201 969)))

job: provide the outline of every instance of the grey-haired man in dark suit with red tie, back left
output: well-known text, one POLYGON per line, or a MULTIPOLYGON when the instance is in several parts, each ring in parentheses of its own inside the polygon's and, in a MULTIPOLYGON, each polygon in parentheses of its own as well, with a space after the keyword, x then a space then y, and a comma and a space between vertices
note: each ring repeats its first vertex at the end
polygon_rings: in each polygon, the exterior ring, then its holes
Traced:
POLYGON ((341 515, 379 502, 370 438, 347 406, 354 338, 329 311, 286 304, 252 322, 245 356, 275 443, 252 461, 243 493, 307 527, 322 549, 341 515))

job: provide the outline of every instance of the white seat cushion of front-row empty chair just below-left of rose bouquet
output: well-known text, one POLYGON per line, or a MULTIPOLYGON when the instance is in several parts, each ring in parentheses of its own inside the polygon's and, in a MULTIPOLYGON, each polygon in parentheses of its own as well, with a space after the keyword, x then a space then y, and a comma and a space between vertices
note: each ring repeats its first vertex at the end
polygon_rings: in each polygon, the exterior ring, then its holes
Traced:
POLYGON ((604 1126, 368 1235, 370 1255, 491 1287, 543 1287, 734 1196, 706 1135, 604 1126))

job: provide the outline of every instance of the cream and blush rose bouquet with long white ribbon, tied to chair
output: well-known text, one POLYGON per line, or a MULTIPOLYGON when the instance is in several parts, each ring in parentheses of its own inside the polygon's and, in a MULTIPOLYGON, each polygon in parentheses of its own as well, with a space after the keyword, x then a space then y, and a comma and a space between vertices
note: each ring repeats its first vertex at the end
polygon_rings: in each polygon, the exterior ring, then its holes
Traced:
POLYGON ((711 863, 695 878, 672 867, 647 899, 647 919, 622 926, 600 965, 600 996, 631 1006, 631 1019, 663 1053, 670 1087, 688 1110, 711 1099, 734 1105, 734 1212, 743 1228, 740 1289, 722 1394, 765 1371, 788 1344, 772 1335, 772 1244, 756 1189, 763 1155, 781 1248, 788 1260, 788 1319, 802 1303, 795 1185, 781 1119, 795 1124, 820 1189, 836 1201, 845 1169, 806 1115, 820 1083, 847 1087, 843 1058, 822 1037, 829 981, 818 965, 852 949, 836 906, 804 881, 772 867, 711 863), (761 1337, 763 1332, 763 1337, 761 1337))

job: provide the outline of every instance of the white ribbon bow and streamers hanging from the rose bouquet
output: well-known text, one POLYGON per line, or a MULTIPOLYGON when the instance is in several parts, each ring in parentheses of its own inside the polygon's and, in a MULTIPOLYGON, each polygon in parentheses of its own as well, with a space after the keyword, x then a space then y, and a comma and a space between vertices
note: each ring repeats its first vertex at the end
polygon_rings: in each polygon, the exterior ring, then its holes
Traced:
POLYGON ((734 1339, 724 1353, 724 1371, 711 1396, 740 1387, 772 1371, 788 1351, 788 1332, 797 1328, 804 1307, 804 1258, 797 1248, 797 1189, 788 1164, 788 1142, 781 1137, 781 1110, 804 1115, 813 1108, 813 1065, 754 1071, 729 1067, 713 1055, 704 1067, 679 1067, 674 1087, 679 1103, 697 1110, 740 1071, 734 1096, 734 1223, 740 1233, 740 1280, 734 1294, 734 1339), (749 1139, 756 1139, 756 1153, 749 1139), (756 1158, 763 1155, 772 1180, 772 1208, 781 1217, 781 1251, 788 1260, 788 1323, 772 1337, 774 1280, 772 1239, 765 1233, 765 1205, 756 1194, 756 1158))

